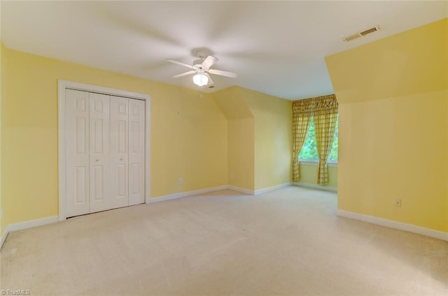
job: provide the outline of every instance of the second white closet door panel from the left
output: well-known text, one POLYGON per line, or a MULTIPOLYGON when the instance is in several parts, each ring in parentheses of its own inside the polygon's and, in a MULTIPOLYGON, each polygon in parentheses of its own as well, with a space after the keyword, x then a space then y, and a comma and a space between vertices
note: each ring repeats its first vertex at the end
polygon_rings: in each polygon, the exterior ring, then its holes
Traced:
POLYGON ((90 212, 111 208, 109 198, 109 96, 90 98, 90 212))

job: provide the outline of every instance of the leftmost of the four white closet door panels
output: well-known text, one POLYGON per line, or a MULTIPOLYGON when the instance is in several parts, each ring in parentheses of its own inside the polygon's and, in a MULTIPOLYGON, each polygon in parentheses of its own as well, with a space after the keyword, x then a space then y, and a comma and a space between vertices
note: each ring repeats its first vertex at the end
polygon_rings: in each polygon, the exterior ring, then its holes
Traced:
POLYGON ((66 216, 90 211, 89 93, 66 89, 66 216))

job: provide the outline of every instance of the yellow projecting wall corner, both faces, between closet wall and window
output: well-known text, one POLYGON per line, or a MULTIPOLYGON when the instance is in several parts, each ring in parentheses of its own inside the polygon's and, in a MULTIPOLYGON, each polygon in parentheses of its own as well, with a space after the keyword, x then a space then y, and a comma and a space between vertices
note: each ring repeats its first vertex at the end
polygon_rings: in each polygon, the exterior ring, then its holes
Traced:
POLYGON ((293 102, 242 87, 214 97, 228 118, 229 184, 258 190, 290 182, 293 102))

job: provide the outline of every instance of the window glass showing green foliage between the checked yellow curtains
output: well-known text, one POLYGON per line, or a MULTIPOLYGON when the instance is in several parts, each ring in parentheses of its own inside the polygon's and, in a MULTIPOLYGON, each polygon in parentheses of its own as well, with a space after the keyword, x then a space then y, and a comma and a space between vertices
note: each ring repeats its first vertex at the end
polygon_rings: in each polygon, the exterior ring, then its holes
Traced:
MULTIPOLYGON (((339 117, 336 119, 335 137, 330 149, 330 155, 328 156, 329 163, 337 163, 337 130, 338 130, 339 117)), ((299 160, 300 161, 318 161, 318 153, 316 146, 316 135, 314 134, 314 120, 311 117, 311 122, 309 123, 307 138, 303 143, 302 150, 300 150, 299 160)))

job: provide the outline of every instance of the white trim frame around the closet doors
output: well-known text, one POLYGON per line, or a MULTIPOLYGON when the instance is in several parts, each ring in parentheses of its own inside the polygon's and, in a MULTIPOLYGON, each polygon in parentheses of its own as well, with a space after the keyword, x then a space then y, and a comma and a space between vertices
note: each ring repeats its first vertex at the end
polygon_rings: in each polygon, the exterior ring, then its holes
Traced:
POLYGON ((59 161, 59 221, 66 219, 66 159, 65 159, 65 89, 76 89, 78 91, 89 91, 110 96, 123 96, 126 98, 137 98, 145 103, 145 202, 151 200, 151 96, 133 91, 111 89, 109 87, 97 87, 96 85, 57 80, 57 118, 58 118, 58 161, 59 161))

